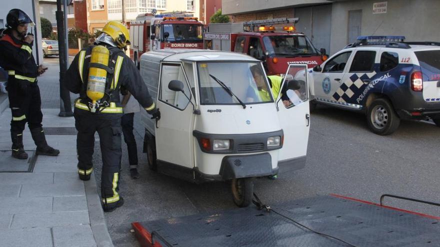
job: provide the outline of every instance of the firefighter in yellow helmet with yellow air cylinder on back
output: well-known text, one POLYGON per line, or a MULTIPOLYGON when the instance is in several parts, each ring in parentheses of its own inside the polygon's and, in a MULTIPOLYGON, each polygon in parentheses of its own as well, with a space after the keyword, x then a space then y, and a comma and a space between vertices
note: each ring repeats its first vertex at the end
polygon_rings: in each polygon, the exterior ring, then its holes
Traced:
POLYGON ((128 90, 142 107, 160 118, 139 71, 122 51, 130 43, 127 28, 109 21, 94 45, 76 54, 66 73, 65 85, 79 93, 74 117, 77 135, 79 179, 89 180, 92 173, 94 133, 99 134, 102 152, 101 197, 105 212, 122 206, 118 194, 121 159, 121 125, 123 108, 120 92, 128 90), (123 89, 123 90, 122 90, 123 89))

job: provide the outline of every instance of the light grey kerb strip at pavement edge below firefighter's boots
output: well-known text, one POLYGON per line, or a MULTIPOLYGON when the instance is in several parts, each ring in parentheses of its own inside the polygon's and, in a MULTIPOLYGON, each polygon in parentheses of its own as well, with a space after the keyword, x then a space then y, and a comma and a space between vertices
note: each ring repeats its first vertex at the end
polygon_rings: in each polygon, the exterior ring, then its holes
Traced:
POLYGON ((84 181, 85 198, 87 200, 90 228, 97 247, 113 247, 110 234, 105 223, 104 212, 97 194, 96 180, 90 176, 89 181, 84 181))

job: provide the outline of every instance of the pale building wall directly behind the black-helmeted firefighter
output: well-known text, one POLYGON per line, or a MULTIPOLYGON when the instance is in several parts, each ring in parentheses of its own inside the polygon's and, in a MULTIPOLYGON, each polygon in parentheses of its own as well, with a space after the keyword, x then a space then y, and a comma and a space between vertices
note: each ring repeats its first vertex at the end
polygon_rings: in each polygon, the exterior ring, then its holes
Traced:
POLYGON ((34 28, 28 28, 28 31, 35 36, 32 53, 36 59, 36 63, 43 62, 42 48, 41 48, 41 29, 40 29, 40 16, 39 16, 39 3, 38 0, 14 0, 14 1, 2 1, 0 8, 0 28, 6 27, 6 15, 12 8, 19 8, 29 15, 29 17, 35 22, 34 28))

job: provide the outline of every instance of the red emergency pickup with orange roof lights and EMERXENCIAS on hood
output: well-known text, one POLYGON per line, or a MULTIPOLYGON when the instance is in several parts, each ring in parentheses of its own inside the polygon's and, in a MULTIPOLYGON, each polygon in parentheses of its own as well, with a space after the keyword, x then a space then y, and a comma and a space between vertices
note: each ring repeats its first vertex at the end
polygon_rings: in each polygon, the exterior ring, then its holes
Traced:
POLYGON ((268 75, 283 75, 289 64, 309 68, 327 59, 324 48, 317 50, 303 33, 295 32, 298 18, 252 20, 208 25, 203 33, 205 49, 246 53, 263 61, 268 75), (276 29, 282 31, 277 31, 276 29))

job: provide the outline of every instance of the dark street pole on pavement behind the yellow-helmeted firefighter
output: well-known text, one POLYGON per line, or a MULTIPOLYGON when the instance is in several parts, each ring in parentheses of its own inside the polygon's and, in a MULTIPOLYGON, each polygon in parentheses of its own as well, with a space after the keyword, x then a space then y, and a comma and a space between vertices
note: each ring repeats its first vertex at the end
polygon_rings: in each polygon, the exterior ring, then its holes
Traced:
POLYGON ((67 70, 66 61, 66 38, 64 34, 64 13, 61 9, 61 0, 56 0, 56 26, 58 34, 58 49, 59 49, 59 113, 60 117, 71 117, 72 106, 70 105, 70 93, 64 86, 65 71, 67 70))

